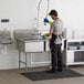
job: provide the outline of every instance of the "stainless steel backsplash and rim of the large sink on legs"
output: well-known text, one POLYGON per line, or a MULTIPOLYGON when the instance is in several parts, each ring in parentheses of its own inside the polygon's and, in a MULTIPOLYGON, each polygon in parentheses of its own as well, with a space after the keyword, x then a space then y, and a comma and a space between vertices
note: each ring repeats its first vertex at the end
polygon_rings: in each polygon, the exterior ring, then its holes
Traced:
POLYGON ((14 39, 17 40, 21 40, 24 42, 30 42, 30 41, 48 41, 44 40, 40 33, 39 34, 34 34, 34 31, 32 30, 15 30, 14 31, 14 39))

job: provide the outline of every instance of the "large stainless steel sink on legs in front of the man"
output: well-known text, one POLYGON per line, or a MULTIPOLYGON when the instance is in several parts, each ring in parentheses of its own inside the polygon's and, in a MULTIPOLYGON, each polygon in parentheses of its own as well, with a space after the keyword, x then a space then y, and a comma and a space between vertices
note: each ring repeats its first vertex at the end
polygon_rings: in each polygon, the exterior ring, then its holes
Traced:
POLYGON ((21 63, 23 63, 28 71, 27 53, 45 52, 44 43, 49 40, 43 40, 40 34, 28 30, 14 31, 14 39, 17 40, 19 50, 19 69, 21 67, 21 63), (25 62, 21 61, 21 52, 25 53, 25 62))

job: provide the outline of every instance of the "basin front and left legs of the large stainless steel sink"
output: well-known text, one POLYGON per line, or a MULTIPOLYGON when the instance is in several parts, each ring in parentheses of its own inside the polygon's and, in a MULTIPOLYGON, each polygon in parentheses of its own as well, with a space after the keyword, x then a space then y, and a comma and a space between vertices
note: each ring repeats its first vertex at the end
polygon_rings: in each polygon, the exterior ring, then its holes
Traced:
POLYGON ((28 72, 28 60, 27 60, 27 53, 43 53, 44 51, 44 41, 39 40, 31 40, 31 41, 21 41, 17 40, 18 43, 18 50, 19 50, 19 69, 21 67, 21 63, 25 65, 25 71, 28 72), (21 60, 21 52, 24 52, 25 60, 21 60))

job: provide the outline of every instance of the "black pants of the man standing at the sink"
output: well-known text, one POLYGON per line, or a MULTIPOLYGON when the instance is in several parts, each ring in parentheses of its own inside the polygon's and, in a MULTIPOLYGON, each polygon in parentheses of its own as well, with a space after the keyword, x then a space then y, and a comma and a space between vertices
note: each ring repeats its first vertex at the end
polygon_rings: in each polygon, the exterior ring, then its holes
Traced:
POLYGON ((61 45, 62 44, 53 44, 51 49, 52 70, 63 69, 61 45))

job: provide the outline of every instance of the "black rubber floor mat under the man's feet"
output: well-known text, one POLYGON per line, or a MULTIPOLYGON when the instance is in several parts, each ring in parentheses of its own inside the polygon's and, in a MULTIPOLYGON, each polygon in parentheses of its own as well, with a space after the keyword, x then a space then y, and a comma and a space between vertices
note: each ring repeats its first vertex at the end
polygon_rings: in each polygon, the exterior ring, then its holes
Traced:
POLYGON ((42 80, 56 80, 56 78, 67 78, 67 77, 80 77, 84 76, 81 73, 77 73, 72 70, 63 70, 62 72, 56 73, 50 73, 46 71, 41 72, 28 72, 28 73, 21 73, 23 76, 32 80, 32 81, 42 81, 42 80))

